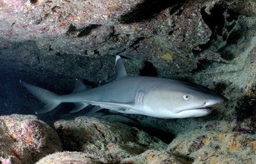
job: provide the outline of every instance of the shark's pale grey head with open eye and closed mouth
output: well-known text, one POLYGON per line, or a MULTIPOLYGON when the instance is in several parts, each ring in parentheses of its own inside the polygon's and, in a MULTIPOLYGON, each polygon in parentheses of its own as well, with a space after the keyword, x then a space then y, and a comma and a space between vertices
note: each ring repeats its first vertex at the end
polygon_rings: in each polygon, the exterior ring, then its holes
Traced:
MULTIPOLYGON (((151 107, 158 108, 159 118, 191 118, 204 116, 212 110, 226 106, 228 99, 218 93, 197 84, 182 81, 164 81, 155 84, 158 90, 151 89, 149 97, 156 101, 145 101, 151 107), (154 96, 153 96, 154 95, 154 96)), ((148 98, 149 98, 148 97, 148 98)))

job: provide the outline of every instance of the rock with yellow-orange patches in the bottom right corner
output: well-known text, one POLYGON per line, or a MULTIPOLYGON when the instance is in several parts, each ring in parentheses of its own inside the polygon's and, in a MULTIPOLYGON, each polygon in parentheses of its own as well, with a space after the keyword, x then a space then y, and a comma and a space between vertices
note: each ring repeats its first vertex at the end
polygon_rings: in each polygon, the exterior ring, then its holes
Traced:
POLYGON ((168 151, 193 163, 254 163, 255 135, 193 130, 177 136, 168 151))

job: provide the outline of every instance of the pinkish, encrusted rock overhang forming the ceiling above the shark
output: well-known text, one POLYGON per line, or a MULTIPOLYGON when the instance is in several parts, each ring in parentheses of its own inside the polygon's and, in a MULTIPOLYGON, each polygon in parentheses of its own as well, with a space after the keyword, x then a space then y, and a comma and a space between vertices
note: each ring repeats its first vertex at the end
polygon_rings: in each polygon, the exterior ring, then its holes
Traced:
MULTIPOLYGON (((0 16, 8 17, 0 23, 0 60, 16 61, 15 70, 23 72, 29 66, 33 76, 42 77, 45 70, 98 83, 113 78, 112 56, 121 54, 130 59, 126 62, 130 74, 138 75, 133 67, 141 68, 148 61, 160 76, 174 77, 193 72, 201 60, 216 61, 202 47, 211 42, 214 27, 221 22, 211 25, 206 19, 223 21, 230 4, 236 9, 240 6, 233 1, 19 0, 13 4, 6 0, 0 4, 0 16)), ((229 19, 237 16, 231 9, 228 14, 229 19)))

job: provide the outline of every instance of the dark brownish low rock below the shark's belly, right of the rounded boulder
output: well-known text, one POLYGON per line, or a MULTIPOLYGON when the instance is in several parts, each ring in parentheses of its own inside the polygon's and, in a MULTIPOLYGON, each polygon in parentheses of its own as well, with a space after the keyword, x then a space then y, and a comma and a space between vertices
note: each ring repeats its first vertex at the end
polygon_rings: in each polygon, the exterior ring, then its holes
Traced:
POLYGON ((161 140, 137 128, 85 116, 56 121, 54 128, 64 150, 84 152, 110 163, 118 163, 147 149, 166 148, 161 140))

